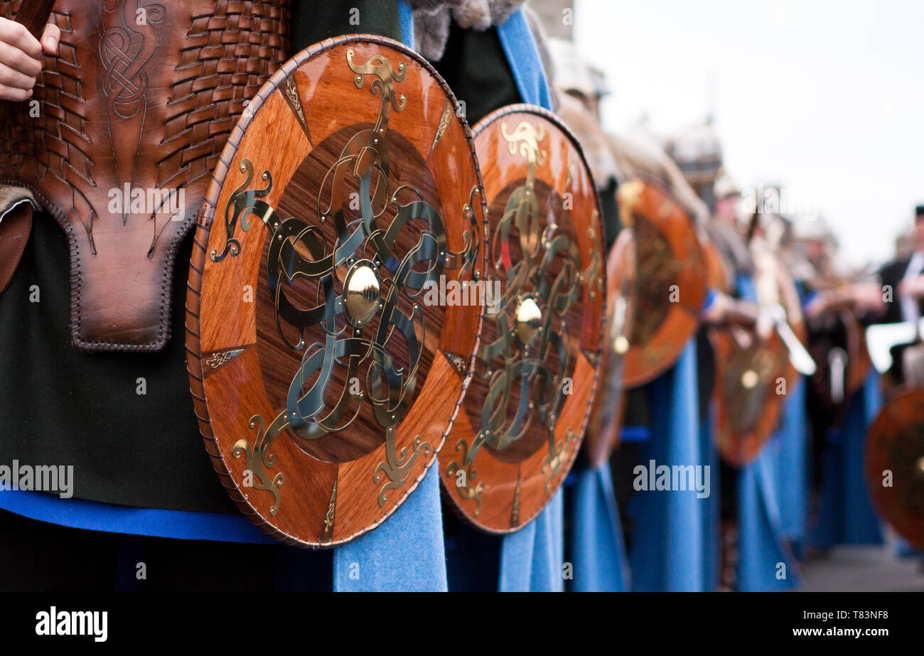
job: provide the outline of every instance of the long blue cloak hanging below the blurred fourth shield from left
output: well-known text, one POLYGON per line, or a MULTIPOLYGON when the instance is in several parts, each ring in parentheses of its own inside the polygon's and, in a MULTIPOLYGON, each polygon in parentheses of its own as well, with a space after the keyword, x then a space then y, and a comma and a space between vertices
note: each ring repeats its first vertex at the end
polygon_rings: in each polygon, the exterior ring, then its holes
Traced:
MULTIPOLYGON (((650 383, 651 437, 640 461, 648 466, 703 465, 699 442, 696 342, 690 340, 675 366, 650 383)), ((712 472, 710 472, 712 474, 712 472)), ((711 494, 714 493, 711 491, 711 494)), ((703 514, 709 498, 695 491, 635 492, 629 563, 633 589, 699 591, 704 580, 703 514)))

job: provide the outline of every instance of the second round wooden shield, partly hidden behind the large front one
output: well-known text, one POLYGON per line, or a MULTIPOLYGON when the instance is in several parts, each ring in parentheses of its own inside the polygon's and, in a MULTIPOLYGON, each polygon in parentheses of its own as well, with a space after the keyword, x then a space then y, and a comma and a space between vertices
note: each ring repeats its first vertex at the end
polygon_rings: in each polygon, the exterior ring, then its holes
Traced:
POLYGON ((551 113, 511 105, 474 131, 489 302, 440 473, 463 516, 507 533, 548 503, 587 427, 606 290, 600 210, 577 140, 551 113))

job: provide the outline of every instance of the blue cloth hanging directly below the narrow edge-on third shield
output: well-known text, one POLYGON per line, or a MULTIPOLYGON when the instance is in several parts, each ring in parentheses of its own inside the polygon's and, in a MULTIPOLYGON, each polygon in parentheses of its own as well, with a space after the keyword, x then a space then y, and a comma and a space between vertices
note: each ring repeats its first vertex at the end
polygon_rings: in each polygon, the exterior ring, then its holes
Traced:
POLYGON ((574 472, 571 492, 570 560, 575 592, 629 589, 628 558, 609 463, 574 472))

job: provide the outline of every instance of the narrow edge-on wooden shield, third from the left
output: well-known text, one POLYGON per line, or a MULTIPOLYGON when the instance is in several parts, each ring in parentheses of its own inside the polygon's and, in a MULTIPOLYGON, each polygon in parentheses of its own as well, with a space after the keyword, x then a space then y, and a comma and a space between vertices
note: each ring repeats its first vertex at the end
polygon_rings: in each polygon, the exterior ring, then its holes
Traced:
POLYGON ((606 258, 606 334, 600 392, 590 414, 584 450, 591 467, 599 468, 619 443, 623 421, 623 364, 636 307, 636 244, 631 228, 623 228, 606 258))

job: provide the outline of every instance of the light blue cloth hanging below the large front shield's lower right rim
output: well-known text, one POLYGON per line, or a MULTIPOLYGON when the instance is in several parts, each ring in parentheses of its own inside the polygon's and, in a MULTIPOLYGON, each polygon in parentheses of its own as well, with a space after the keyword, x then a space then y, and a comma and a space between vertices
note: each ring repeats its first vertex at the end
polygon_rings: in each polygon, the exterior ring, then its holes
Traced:
POLYGON ((438 466, 381 526, 334 550, 334 590, 446 591, 438 466))

